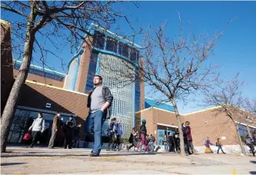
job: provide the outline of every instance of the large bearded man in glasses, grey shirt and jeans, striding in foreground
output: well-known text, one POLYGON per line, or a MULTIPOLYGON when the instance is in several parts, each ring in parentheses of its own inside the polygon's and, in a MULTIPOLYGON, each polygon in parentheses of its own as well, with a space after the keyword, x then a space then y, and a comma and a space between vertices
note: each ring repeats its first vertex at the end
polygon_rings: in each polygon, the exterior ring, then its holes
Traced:
POLYGON ((101 76, 96 75, 93 83, 95 88, 88 95, 87 107, 90 107, 90 111, 85 121, 85 131, 89 137, 95 137, 95 144, 89 156, 98 157, 102 146, 101 128, 105 119, 110 118, 113 95, 108 87, 102 85, 101 76))

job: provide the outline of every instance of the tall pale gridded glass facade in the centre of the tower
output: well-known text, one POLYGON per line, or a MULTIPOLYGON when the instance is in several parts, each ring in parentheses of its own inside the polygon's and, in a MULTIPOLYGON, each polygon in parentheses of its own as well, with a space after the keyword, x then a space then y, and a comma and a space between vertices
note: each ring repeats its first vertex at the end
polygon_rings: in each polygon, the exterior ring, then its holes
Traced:
MULTIPOLYGON (((132 64, 130 66, 133 67, 132 64)), ((135 120, 135 82, 131 82, 125 76, 118 74, 115 71, 118 69, 121 69, 122 72, 131 71, 120 58, 109 54, 101 54, 99 74, 103 79, 103 84, 110 89, 114 96, 111 117, 121 119, 124 137, 128 138, 135 120)), ((106 121, 103 130, 107 129, 108 124, 109 121, 106 121)))

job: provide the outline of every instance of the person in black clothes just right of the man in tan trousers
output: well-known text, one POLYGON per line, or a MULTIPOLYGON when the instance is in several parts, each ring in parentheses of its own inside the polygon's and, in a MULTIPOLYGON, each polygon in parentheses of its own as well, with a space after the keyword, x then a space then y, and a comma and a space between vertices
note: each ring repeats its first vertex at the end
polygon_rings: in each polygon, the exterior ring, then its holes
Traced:
POLYGON ((75 120, 73 119, 73 116, 71 115, 69 117, 69 120, 66 121, 66 124, 65 124, 65 147, 64 147, 64 149, 67 149, 67 147, 68 147, 68 149, 71 149, 75 126, 76 126, 75 120))

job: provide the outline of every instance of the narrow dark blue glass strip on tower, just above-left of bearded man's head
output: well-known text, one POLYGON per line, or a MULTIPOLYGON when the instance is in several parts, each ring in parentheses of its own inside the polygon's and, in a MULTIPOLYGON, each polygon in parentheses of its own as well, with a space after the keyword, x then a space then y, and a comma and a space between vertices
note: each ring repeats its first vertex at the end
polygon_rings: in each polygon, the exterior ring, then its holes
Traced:
POLYGON ((94 52, 91 53, 88 74, 87 74, 87 81, 85 86, 85 93, 88 93, 89 91, 91 91, 91 89, 93 89, 93 87, 95 86, 93 84, 93 78, 95 77, 95 73, 96 73, 97 60, 98 60, 98 54, 94 52))

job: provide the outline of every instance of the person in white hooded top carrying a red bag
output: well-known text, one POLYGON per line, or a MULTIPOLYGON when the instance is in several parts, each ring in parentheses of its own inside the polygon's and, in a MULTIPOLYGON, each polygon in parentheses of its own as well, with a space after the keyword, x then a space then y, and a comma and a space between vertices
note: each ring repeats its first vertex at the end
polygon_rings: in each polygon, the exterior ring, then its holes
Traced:
POLYGON ((38 137, 45 131, 45 120, 42 116, 42 113, 38 114, 38 117, 34 120, 31 127, 28 129, 29 131, 32 130, 32 144, 30 147, 34 147, 38 137))

